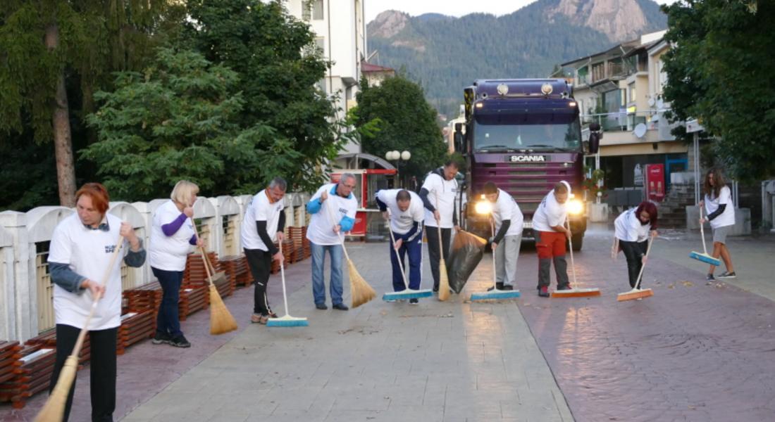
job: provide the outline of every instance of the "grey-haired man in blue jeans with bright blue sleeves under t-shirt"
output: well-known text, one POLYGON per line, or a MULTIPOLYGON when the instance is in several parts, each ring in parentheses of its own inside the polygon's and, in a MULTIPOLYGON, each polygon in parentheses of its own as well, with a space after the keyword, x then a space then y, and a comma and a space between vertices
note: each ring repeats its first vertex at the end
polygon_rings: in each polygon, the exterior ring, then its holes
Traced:
POLYGON ((307 238, 312 248, 312 299, 315 307, 325 306, 325 252, 331 257, 331 304, 334 309, 347 310, 342 302, 342 233, 350 232, 355 225, 358 201, 353 195, 356 179, 353 173, 344 173, 339 183, 324 184, 307 203, 312 219, 307 228, 307 238))

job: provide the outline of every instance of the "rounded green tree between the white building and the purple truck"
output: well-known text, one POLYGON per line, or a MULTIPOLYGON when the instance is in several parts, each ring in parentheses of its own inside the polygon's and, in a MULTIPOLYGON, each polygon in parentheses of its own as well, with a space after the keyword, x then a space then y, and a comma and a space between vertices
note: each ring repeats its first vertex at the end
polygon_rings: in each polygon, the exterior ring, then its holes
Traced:
POLYGON ((412 159, 401 171, 404 177, 422 179, 429 170, 441 164, 447 146, 436 123, 433 109, 422 92, 422 87, 405 77, 387 78, 377 87, 361 83, 363 91, 357 94, 357 125, 380 122, 379 132, 363 139, 363 151, 384 156, 387 151, 408 150, 412 159))

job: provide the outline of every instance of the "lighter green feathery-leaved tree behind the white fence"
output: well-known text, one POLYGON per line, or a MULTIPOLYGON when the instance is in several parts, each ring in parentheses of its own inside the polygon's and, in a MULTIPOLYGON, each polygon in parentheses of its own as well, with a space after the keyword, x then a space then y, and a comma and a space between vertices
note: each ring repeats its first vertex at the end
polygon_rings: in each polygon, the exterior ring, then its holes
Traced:
POLYGON ((236 72, 222 64, 160 49, 143 73, 119 73, 115 91, 95 94, 102 107, 88 123, 100 140, 83 156, 98 163, 119 198, 164 197, 181 179, 208 194, 253 191, 300 153, 266 125, 240 127, 238 87, 236 72))

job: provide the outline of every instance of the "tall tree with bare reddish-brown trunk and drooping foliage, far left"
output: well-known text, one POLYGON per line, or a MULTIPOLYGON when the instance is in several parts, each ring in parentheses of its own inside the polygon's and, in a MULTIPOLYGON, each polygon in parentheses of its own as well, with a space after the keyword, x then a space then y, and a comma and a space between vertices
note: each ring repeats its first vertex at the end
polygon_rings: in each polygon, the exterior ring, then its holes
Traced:
MULTIPOLYGON (((154 0, 5 0, 0 8, 0 133, 5 145, 53 140, 60 204, 74 206, 71 123, 91 111, 91 93, 112 70, 140 66, 170 25, 154 0), (153 36, 151 34, 154 34, 153 36), (76 83, 72 83, 77 81, 76 83), (77 110, 68 88, 80 84, 77 110)), ((43 191, 40 186, 33 190, 43 191)))

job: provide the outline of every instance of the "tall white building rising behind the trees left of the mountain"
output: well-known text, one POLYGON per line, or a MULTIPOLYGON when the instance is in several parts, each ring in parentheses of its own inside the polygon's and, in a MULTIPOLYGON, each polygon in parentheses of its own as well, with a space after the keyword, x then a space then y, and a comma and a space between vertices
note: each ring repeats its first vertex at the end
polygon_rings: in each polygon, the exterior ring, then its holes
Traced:
MULTIPOLYGON (((323 57, 332 62, 319 87, 328 95, 338 95, 341 118, 355 105, 360 81, 360 62, 366 58, 364 0, 286 0, 285 7, 295 18, 308 22, 317 37, 323 57)), ((360 145, 348 145, 343 153, 360 153, 360 145)))

